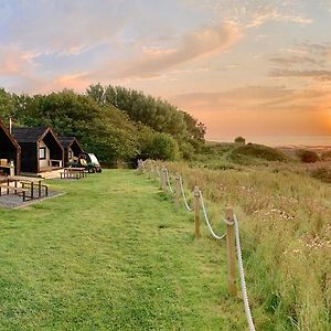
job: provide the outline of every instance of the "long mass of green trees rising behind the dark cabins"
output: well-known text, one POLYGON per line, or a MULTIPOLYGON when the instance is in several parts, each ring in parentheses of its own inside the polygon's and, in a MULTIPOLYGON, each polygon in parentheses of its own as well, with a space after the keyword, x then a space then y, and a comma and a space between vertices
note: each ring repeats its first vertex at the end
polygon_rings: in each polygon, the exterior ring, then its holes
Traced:
POLYGON ((205 126, 190 114, 120 86, 33 96, 1 88, 0 118, 8 124, 10 117, 17 127, 50 126, 58 136, 75 136, 107 163, 190 159, 204 146, 205 126))

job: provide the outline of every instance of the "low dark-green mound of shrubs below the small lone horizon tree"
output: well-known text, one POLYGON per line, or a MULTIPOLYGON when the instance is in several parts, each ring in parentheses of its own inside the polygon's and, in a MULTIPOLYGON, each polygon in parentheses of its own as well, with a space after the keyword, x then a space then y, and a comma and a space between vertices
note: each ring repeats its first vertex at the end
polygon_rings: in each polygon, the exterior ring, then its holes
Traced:
POLYGON ((271 147, 257 143, 237 146, 229 153, 229 159, 241 164, 254 162, 254 159, 281 162, 288 160, 288 158, 281 151, 271 147))

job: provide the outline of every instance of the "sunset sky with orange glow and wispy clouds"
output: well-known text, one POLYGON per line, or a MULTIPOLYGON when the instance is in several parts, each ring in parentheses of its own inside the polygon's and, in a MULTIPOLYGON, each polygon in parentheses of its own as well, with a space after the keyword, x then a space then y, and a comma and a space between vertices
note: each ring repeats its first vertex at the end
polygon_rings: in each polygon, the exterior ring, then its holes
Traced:
POLYGON ((0 87, 121 85, 210 140, 331 143, 331 0, 0 0, 0 87))

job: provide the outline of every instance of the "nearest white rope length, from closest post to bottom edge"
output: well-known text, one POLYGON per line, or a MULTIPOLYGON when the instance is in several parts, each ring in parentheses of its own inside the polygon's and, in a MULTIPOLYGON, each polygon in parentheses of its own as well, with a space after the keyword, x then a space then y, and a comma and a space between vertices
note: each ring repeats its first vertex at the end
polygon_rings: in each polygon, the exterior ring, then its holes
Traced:
POLYGON ((246 319, 248 322, 249 331, 255 331, 253 317, 252 317, 249 302, 248 302, 248 296, 247 296, 245 271, 244 271, 242 247, 241 247, 239 224, 238 224, 238 220, 237 220, 236 215, 234 215, 234 227, 235 227, 237 258, 238 258, 238 267, 239 267, 239 276, 241 276, 241 286, 242 286, 242 293, 243 293, 243 299, 244 299, 244 308, 245 308, 245 312, 246 312, 246 319))

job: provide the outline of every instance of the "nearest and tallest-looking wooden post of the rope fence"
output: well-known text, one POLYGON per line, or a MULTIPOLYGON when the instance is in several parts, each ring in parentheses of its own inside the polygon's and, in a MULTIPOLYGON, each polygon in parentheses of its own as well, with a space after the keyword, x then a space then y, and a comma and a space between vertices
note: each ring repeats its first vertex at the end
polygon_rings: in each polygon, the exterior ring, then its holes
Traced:
POLYGON ((237 295, 236 286, 236 244, 235 244, 235 228, 233 209, 225 210, 226 224, 226 255, 227 255, 227 277, 228 289, 233 297, 237 295))

